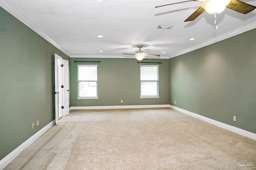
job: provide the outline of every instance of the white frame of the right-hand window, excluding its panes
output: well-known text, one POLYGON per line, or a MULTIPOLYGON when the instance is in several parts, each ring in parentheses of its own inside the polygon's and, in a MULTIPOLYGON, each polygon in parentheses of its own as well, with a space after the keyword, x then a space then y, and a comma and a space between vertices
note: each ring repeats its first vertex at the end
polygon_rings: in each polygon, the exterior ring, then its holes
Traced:
POLYGON ((159 65, 140 65, 140 99, 159 99, 159 65), (157 80, 141 80, 141 67, 157 67, 157 80), (142 82, 157 82, 157 95, 141 95, 142 82))

